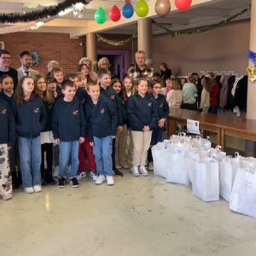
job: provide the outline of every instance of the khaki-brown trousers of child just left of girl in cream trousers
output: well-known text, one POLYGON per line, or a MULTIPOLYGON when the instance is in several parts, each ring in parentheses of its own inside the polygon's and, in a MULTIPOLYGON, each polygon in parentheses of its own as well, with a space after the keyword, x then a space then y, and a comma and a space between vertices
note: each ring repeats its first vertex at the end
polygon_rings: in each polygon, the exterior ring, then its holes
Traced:
POLYGON ((123 125, 123 130, 118 131, 115 140, 115 163, 116 166, 127 166, 127 127, 123 125))

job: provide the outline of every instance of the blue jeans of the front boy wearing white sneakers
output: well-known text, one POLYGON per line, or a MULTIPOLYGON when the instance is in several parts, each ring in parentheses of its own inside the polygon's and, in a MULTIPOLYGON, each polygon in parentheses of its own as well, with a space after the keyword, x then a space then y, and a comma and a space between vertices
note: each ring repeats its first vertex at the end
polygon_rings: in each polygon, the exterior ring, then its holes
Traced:
POLYGON ((112 166, 112 143, 113 139, 111 136, 108 137, 93 137, 94 147, 93 154, 96 161, 96 169, 99 174, 102 175, 113 175, 112 166))

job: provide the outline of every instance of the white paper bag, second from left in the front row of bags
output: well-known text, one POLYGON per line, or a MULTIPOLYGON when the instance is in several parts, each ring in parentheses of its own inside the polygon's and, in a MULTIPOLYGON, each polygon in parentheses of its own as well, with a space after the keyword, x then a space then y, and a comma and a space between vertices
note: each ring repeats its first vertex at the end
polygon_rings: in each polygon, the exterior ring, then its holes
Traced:
POLYGON ((189 185, 186 157, 188 157, 186 148, 176 148, 170 151, 170 160, 167 166, 167 182, 189 185))

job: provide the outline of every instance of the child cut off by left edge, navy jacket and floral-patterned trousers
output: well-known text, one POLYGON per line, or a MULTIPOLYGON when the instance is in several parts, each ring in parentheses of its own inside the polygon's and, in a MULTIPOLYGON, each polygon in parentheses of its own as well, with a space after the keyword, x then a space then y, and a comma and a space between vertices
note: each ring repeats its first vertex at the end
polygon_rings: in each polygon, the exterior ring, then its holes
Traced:
POLYGON ((12 198, 8 149, 15 143, 15 119, 9 103, 0 98, 0 196, 12 198))

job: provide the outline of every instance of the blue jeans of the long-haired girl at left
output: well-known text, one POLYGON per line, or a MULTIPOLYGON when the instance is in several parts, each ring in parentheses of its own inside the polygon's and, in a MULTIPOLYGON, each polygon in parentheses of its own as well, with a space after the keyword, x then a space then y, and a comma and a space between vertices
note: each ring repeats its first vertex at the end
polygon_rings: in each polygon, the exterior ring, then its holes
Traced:
POLYGON ((41 139, 40 136, 19 137, 20 171, 23 188, 41 185, 41 139))

